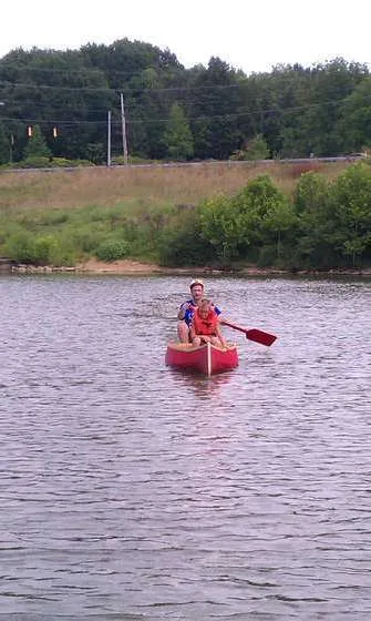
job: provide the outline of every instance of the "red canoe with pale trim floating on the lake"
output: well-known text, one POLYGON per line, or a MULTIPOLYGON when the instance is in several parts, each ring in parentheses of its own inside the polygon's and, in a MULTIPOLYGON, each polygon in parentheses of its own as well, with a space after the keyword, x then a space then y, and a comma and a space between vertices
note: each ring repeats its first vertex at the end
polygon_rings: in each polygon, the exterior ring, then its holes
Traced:
POLYGON ((199 347, 190 343, 168 343, 165 363, 172 367, 214 375, 237 367, 238 353, 234 343, 228 343, 226 349, 209 343, 199 347))

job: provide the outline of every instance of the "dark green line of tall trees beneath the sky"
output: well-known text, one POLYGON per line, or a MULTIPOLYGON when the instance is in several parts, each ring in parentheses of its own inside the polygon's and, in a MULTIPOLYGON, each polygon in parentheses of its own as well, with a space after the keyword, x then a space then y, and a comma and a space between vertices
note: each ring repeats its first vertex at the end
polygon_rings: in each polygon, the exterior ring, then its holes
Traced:
POLYGON ((246 75, 219 58, 185 69, 169 50, 118 40, 17 49, 0 60, 0 164, 39 155, 114 161, 336 156, 371 145, 371 77, 342 58, 246 75), (124 101, 124 116, 120 105, 124 101))

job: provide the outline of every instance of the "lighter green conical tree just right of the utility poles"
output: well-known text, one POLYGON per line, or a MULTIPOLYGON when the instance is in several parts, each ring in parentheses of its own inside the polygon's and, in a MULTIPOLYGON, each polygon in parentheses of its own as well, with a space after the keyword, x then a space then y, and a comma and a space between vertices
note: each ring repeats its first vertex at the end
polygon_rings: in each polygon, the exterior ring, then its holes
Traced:
POLYGON ((174 103, 171 118, 164 134, 167 152, 172 160, 190 160, 194 153, 193 135, 184 110, 174 103))

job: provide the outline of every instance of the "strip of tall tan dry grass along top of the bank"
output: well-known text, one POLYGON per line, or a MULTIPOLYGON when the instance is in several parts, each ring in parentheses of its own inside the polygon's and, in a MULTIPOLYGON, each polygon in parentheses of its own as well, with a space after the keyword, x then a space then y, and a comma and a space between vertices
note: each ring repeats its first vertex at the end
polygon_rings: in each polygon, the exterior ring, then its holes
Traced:
MULTIPOLYGON (((349 164, 312 165, 316 172, 334 177, 349 164)), ((213 162, 168 167, 3 172, 0 173, 0 208, 109 207, 127 201, 198 203, 212 194, 233 194, 261 173, 268 173, 284 192, 291 193, 300 171, 297 164, 279 162, 213 162)))

